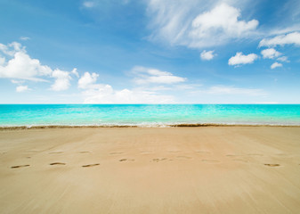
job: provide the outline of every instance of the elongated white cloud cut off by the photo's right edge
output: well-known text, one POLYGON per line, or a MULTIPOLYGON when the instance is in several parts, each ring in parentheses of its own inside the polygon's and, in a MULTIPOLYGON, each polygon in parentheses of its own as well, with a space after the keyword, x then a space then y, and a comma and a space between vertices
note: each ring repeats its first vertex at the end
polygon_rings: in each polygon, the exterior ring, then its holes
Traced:
POLYGON ((280 35, 272 38, 264 38, 259 43, 259 46, 276 46, 276 45, 300 45, 300 33, 293 32, 287 35, 280 35))

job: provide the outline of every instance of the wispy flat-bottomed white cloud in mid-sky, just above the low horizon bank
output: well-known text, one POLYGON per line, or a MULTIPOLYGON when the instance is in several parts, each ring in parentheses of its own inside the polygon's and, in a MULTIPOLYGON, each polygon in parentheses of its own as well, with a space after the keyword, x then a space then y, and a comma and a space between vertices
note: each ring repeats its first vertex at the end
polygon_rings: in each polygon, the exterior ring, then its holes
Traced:
POLYGON ((142 66, 135 66, 131 72, 137 76, 134 78, 134 82, 137 84, 175 84, 186 80, 186 78, 174 76, 167 71, 145 68, 142 66))

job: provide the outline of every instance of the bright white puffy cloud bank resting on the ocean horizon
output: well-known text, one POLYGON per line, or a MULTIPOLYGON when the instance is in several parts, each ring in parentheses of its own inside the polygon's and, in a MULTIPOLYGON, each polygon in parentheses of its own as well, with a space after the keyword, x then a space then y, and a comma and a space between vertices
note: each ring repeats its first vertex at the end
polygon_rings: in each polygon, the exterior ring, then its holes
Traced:
MULTIPOLYGON (((153 70, 157 73, 156 70, 153 70)), ((141 89, 115 90, 107 84, 97 83, 96 73, 85 72, 79 78, 78 87, 84 89, 84 103, 174 103, 174 97, 159 95, 157 92, 141 89)))

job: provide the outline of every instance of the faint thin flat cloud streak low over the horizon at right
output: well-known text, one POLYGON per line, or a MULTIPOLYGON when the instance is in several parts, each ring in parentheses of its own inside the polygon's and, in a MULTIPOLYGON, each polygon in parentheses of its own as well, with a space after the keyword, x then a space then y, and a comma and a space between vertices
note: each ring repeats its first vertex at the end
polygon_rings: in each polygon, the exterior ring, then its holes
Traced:
POLYGON ((267 95, 262 89, 241 88, 235 86, 211 86, 207 90, 200 91, 212 95, 267 95))

